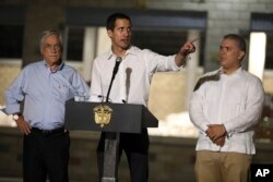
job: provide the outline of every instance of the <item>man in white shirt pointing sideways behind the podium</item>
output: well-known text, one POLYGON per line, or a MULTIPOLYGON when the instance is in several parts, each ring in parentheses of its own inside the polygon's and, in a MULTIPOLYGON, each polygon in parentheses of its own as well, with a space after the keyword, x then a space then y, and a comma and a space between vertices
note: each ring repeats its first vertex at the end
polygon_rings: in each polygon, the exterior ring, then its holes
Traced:
MULTIPOLYGON (((131 45, 131 20, 122 13, 111 14, 107 19, 107 34, 111 39, 111 49, 94 60, 91 101, 111 101, 124 104, 147 104, 149 89, 155 72, 178 71, 185 64, 186 57, 195 50, 192 41, 185 44, 179 52, 164 57, 151 50, 141 50, 131 45), (120 61, 121 60, 121 61, 120 61), (116 63, 118 62, 118 63, 116 63), (117 69, 111 81, 112 70, 117 69)), ((103 175, 105 133, 97 147, 99 178, 103 175)), ((141 134, 120 134, 119 158, 124 150, 132 182, 146 182, 149 177, 149 136, 146 129, 141 134)))

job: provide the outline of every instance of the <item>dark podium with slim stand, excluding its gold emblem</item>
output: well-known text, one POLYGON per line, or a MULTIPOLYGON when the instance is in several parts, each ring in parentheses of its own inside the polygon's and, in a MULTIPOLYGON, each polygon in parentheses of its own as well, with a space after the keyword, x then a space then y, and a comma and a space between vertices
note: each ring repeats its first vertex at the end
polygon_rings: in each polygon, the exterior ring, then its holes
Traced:
POLYGON ((66 129, 71 131, 106 132, 104 171, 102 182, 118 181, 118 147, 120 133, 141 133, 142 128, 157 128, 157 119, 143 105, 87 102, 69 100, 66 102, 66 129), (111 109, 108 124, 97 123, 96 108, 111 109), (96 119, 95 119, 96 118, 96 119))

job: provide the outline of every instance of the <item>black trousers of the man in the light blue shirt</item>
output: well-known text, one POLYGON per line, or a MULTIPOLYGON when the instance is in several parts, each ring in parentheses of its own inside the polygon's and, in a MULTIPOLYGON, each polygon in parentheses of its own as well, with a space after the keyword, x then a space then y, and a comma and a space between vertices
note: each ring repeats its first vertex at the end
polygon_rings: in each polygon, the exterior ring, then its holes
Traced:
POLYGON ((70 136, 63 129, 32 129, 23 139, 24 182, 68 182, 70 136))

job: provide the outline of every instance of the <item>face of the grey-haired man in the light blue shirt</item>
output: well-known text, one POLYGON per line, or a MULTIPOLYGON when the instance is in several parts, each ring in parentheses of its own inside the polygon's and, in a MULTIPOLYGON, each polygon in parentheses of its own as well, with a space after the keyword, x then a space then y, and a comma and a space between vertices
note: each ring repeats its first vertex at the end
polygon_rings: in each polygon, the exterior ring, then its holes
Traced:
POLYGON ((59 64, 62 52, 60 39, 56 35, 45 37, 40 52, 49 65, 59 64))

